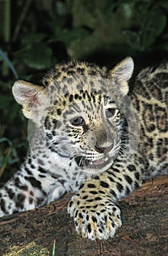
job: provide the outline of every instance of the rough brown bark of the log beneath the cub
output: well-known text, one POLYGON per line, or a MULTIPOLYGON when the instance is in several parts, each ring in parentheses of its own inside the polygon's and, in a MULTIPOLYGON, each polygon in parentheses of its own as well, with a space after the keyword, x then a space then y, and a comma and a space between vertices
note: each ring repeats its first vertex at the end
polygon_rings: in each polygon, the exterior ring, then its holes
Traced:
POLYGON ((168 176, 150 180, 121 200, 123 226, 115 238, 89 241, 75 232, 66 207, 70 195, 49 206, 3 217, 0 255, 168 255, 168 176))

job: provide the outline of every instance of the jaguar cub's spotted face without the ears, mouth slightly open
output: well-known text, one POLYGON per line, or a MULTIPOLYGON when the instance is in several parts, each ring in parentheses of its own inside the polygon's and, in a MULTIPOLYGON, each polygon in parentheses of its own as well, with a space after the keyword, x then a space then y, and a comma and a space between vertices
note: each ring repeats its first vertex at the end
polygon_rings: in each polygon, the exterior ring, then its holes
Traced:
MULTIPOLYGON (((60 98, 52 97, 44 118, 44 133, 50 151, 74 159, 82 170, 98 173, 124 151, 127 132, 121 106, 124 97, 117 89, 108 95, 100 80, 90 79, 92 87, 86 83, 82 89, 75 87, 61 93, 60 98)), ((107 86, 109 82, 107 79, 107 86)))

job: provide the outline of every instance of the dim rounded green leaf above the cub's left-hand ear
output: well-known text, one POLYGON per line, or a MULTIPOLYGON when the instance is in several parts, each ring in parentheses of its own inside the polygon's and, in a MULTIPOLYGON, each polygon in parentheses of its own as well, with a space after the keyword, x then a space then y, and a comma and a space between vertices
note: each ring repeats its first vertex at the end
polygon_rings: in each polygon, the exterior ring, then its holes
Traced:
POLYGON ((52 50, 44 42, 33 45, 23 53, 24 63, 33 69, 46 69, 51 66, 52 50))

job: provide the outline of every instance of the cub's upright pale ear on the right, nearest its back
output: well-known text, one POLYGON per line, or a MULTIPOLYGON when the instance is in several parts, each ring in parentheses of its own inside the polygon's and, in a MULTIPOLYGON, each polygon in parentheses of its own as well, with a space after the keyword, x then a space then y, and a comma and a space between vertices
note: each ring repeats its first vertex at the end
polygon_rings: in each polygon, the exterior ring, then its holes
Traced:
POLYGON ((109 77, 119 86, 121 93, 124 95, 129 91, 127 81, 132 77, 133 69, 134 62, 131 57, 127 57, 109 72, 109 77))

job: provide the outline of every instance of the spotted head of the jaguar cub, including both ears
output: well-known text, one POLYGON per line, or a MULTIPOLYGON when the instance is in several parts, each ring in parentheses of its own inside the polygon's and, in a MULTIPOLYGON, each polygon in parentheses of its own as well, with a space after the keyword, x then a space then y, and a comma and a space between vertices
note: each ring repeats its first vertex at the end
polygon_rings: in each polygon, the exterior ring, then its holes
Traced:
POLYGON ((24 115, 41 130, 51 154, 99 173, 127 148, 124 104, 132 71, 130 57, 110 71, 70 62, 49 71, 43 86, 17 80, 12 92, 24 115))

